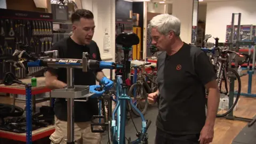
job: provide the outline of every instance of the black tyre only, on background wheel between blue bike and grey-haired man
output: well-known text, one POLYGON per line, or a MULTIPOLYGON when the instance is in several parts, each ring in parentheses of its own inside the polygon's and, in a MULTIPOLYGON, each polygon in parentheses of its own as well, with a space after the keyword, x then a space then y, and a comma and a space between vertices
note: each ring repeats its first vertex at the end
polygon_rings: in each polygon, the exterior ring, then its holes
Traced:
MULTIPOLYGON (((131 87, 130 87, 130 89, 129 89, 129 96, 130 96, 130 97, 133 97, 133 88, 134 88, 134 86, 137 86, 137 89, 138 89, 138 85, 139 85, 139 86, 142 86, 142 84, 140 84, 140 83, 135 83, 135 84, 131 85, 131 87)), ((145 89, 143 89, 143 86, 142 86, 142 90, 143 90, 143 93, 146 93, 145 89)), ((148 95, 147 95, 147 93, 146 93, 145 107, 144 107, 144 109, 141 111, 141 113, 142 113, 143 115, 146 113, 147 108, 148 108, 148 95)), ((140 114, 139 114, 133 107, 131 107, 131 110, 132 110, 132 113, 133 113, 134 115, 140 116, 140 114)))

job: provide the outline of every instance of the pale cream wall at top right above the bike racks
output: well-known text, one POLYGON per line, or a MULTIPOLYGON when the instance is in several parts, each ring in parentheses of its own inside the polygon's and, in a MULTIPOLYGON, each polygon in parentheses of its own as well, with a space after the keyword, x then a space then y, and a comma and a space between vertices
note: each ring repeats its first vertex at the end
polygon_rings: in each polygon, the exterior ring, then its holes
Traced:
MULTIPOLYGON (((255 25, 255 5, 255 0, 207 3, 205 34, 219 37, 219 42, 225 42, 226 26, 231 24, 232 13, 242 13, 241 25, 255 25)), ((238 15, 235 17, 235 25, 237 22, 238 15)), ((209 42, 214 42, 214 39, 210 38, 209 42)))

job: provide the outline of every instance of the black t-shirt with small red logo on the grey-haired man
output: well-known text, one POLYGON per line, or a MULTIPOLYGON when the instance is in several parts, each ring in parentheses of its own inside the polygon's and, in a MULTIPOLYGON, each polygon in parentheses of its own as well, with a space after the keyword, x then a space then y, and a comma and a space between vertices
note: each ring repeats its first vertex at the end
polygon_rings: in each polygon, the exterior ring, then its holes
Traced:
POLYGON ((183 44, 181 49, 157 60, 159 89, 156 126, 171 134, 197 134, 205 124, 205 87, 216 78, 201 49, 183 44))

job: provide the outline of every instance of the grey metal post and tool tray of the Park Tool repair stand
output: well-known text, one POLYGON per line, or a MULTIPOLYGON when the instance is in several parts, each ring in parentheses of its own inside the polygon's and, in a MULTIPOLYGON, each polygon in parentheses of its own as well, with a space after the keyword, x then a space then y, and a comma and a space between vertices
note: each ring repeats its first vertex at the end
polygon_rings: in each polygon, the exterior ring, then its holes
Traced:
MULTIPOLYGON (((83 58, 86 58, 83 53, 83 58)), ((85 62, 85 61, 83 61, 85 62)), ((87 65, 87 61, 84 63, 87 65)), ((74 99, 89 98, 94 93, 91 93, 90 86, 74 85, 74 68, 76 65, 65 65, 62 68, 67 68, 67 87, 65 89, 55 89, 51 92, 52 98, 66 98, 67 99, 67 144, 75 144, 74 139, 74 99)), ((83 69, 83 71, 87 71, 83 69)), ((79 100, 86 101, 86 100, 79 100)))

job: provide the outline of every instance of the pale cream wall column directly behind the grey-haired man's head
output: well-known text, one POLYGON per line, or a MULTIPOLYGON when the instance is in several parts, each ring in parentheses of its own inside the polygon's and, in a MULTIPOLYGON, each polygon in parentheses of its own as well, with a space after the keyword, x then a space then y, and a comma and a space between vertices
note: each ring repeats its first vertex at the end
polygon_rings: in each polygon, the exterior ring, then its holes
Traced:
POLYGON ((172 14, 181 21, 180 37, 183 42, 191 43, 193 1, 175 0, 172 3, 172 14))

